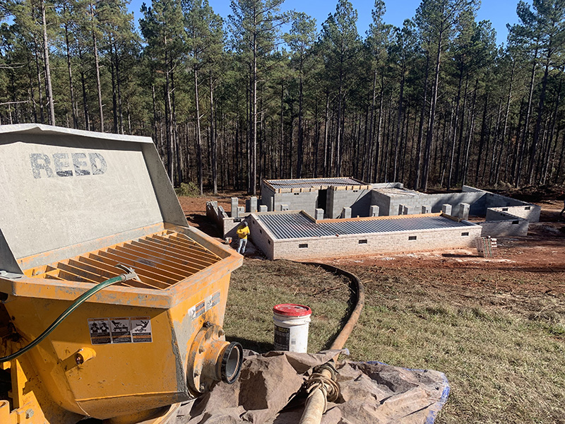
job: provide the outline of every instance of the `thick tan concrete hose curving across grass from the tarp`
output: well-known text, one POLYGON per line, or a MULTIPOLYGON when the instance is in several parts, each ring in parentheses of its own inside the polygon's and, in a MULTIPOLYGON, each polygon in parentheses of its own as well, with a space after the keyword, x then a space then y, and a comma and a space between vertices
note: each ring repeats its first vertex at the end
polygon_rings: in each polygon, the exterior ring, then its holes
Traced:
MULTIPOLYGON (((310 262, 304 264, 321 266, 321 268, 326 271, 346 276, 350 280, 352 292, 355 293, 355 308, 351 312, 349 319, 347 319, 345 326, 341 329, 340 334, 338 334, 330 346, 330 349, 342 349, 345 345, 345 341, 347 341, 347 338, 353 331, 353 327, 357 323, 365 303, 363 285, 355 274, 339 269, 336 266, 310 262)), ((306 389, 308 398, 299 424, 320 424, 323 413, 326 412, 326 408, 328 407, 328 401, 333 402, 338 399, 340 389, 338 383, 335 382, 337 372, 333 366, 337 358, 338 355, 335 355, 330 362, 314 368, 314 372, 307 380, 306 389)))

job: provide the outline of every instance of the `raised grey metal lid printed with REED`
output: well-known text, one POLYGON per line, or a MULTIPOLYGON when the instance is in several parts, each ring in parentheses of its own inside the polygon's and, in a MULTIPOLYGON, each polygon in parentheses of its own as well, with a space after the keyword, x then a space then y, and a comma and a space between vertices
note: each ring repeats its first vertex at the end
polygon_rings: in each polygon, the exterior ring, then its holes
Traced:
MULTIPOLYGON (((143 228, 187 226, 149 137, 0 125, 0 270, 143 228)), ((36 264, 41 259, 35 261, 36 264)))

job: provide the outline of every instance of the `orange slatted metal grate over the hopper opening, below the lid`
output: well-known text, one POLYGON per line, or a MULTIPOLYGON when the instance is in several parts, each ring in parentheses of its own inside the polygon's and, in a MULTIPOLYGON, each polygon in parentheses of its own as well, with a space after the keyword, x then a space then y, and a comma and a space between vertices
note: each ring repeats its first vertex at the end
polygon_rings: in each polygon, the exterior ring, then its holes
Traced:
POLYGON ((81 254, 55 264, 28 269, 25 275, 52 280, 101 283, 124 271, 117 264, 136 269, 141 281, 120 283, 126 287, 162 290, 220 261, 217 254, 171 230, 81 254))

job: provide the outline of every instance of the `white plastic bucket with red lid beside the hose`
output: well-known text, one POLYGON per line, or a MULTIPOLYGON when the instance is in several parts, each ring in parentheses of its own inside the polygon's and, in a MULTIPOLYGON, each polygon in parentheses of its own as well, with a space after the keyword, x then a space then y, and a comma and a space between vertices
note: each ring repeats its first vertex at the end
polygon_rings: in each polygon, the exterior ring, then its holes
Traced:
POLYGON ((273 307, 275 351, 307 353, 312 311, 304 305, 283 303, 273 307))

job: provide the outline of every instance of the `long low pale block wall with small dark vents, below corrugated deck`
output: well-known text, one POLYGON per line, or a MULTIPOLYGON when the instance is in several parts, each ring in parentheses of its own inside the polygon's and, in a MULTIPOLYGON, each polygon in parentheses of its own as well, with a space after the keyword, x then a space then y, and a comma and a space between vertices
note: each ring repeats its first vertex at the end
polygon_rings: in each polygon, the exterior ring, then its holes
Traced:
MULTIPOLYGON (((259 225, 260 223, 258 223, 259 225)), ((265 246, 269 259, 314 259, 362 254, 424 252, 436 249, 475 247, 475 238, 482 232, 480 225, 420 231, 376 232, 370 234, 308 237, 273 240, 261 234, 258 242, 265 246), (414 238, 415 237, 415 238, 414 238), (270 240, 270 243, 268 242, 270 240)), ((258 245, 258 243, 254 243, 258 245)))

